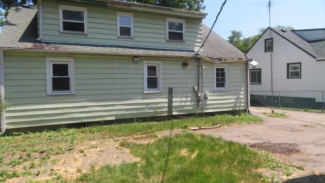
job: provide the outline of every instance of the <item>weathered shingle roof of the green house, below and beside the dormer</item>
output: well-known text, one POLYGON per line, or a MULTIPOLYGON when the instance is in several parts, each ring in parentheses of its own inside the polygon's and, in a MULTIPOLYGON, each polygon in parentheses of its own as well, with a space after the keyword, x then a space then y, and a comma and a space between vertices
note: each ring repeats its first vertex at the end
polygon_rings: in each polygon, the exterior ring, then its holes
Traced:
MULTIPOLYGON (((195 53, 194 51, 177 49, 40 42, 37 41, 37 17, 36 6, 30 6, 30 8, 12 7, 8 13, 3 32, 0 34, 0 49, 164 57, 192 57, 195 53)), ((203 39, 207 36, 208 32, 209 27, 203 25, 203 39)), ((244 53, 214 32, 210 35, 200 54, 206 57, 217 58, 246 58, 244 53)))

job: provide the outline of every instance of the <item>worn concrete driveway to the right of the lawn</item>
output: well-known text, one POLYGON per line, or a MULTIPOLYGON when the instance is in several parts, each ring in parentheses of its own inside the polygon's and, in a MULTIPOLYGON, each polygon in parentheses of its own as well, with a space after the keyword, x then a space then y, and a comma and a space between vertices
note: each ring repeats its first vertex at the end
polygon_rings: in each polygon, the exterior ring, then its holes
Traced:
POLYGON ((270 150, 283 161, 305 165, 317 173, 325 172, 325 114, 275 110, 288 118, 268 117, 269 108, 253 107, 252 112, 264 119, 263 124, 221 128, 204 133, 251 147, 270 150))

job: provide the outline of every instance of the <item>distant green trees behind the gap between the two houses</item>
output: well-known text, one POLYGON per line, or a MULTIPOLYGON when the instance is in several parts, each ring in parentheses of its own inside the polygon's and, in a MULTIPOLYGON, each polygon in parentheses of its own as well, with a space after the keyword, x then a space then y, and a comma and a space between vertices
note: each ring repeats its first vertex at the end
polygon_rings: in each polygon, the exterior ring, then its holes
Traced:
MULTIPOLYGON (((286 31, 295 29, 293 26, 276 25, 272 28, 284 29, 286 31)), ((267 28, 262 27, 258 29, 258 34, 255 36, 244 38, 241 31, 231 31, 231 36, 228 37, 228 42, 234 45, 236 48, 246 53, 250 47, 258 40, 258 38, 265 32, 267 28)))

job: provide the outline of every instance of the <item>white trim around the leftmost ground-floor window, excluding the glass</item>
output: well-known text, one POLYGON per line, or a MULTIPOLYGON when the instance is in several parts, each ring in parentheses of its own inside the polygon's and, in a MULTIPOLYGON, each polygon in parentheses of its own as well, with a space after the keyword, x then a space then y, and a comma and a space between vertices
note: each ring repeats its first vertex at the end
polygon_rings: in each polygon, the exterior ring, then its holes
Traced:
POLYGON ((47 95, 67 95, 75 94, 75 64, 71 57, 46 57, 46 90, 47 95), (53 92, 52 91, 52 70, 51 63, 69 63, 70 91, 53 92))

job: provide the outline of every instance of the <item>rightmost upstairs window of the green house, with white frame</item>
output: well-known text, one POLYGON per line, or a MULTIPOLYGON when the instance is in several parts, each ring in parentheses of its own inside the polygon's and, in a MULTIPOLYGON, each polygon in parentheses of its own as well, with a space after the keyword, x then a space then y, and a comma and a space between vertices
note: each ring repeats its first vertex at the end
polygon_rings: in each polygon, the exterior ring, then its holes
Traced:
POLYGON ((185 41, 185 21, 178 19, 167 19, 167 40, 185 41))

